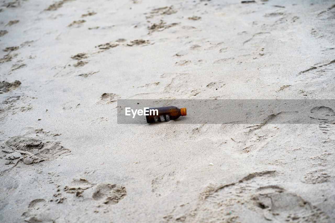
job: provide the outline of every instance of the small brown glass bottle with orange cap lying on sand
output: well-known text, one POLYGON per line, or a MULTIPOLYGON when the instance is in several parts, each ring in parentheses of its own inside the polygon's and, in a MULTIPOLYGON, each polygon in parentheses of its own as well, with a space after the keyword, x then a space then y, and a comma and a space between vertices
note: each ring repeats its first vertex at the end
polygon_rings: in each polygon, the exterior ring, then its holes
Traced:
POLYGON ((176 106, 153 107, 146 110, 149 114, 146 116, 147 123, 168 122, 176 120, 180 116, 186 116, 186 107, 178 108, 176 106), (158 111, 158 114, 157 114, 158 111))

